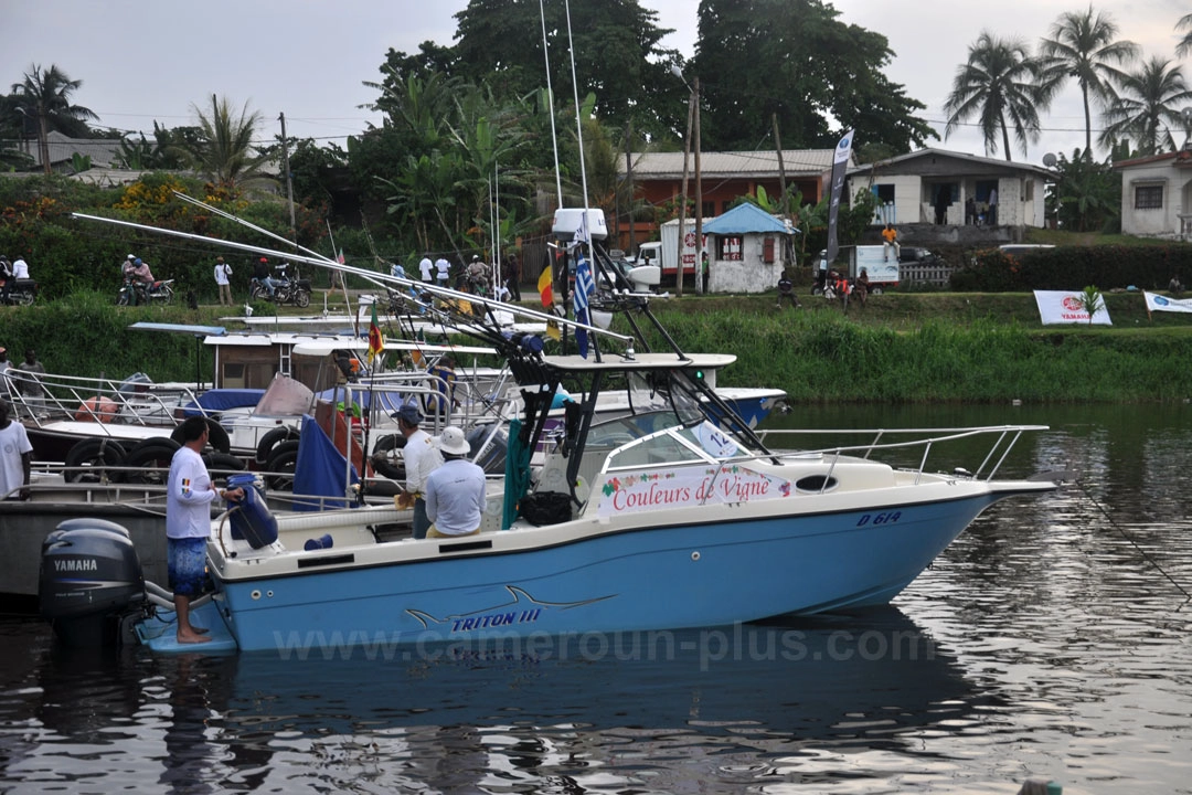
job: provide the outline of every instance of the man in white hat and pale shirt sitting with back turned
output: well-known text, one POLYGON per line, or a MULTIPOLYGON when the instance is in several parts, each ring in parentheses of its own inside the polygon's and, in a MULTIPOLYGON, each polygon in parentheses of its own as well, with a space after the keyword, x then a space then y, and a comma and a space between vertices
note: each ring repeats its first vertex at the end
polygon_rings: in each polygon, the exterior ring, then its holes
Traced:
POLYGON ((434 524, 428 539, 458 539, 480 532, 480 517, 488 507, 484 470, 467 460, 472 452, 464 431, 455 426, 439 436, 443 465, 427 478, 427 516, 434 524))

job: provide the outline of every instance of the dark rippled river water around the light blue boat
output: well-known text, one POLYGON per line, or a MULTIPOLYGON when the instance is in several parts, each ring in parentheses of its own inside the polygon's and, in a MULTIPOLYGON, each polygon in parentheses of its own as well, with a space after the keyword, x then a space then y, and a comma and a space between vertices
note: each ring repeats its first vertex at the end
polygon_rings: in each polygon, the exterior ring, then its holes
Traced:
POLYGON ((1192 793, 1192 406, 771 424, 1010 422, 1051 430, 1007 473, 1078 485, 995 505, 861 615, 305 660, 68 653, 6 617, 0 791, 1192 793))

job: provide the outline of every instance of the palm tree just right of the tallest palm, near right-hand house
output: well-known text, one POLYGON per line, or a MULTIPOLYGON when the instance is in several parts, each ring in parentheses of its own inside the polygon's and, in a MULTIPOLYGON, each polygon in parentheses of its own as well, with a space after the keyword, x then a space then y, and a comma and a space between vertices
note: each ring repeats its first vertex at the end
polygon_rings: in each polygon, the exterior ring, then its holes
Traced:
POLYGON ((1188 100, 1192 91, 1180 68, 1166 58, 1151 57, 1123 77, 1118 98, 1105 111, 1105 130, 1098 142, 1113 145, 1134 138, 1140 155, 1174 150, 1175 141, 1165 124, 1180 124, 1179 107, 1188 100))

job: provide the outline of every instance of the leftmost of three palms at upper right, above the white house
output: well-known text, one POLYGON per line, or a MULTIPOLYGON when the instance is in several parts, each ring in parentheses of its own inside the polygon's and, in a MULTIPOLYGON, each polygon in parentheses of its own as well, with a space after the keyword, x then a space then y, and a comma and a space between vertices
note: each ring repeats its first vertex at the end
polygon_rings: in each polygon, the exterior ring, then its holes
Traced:
POLYGON ((1045 110, 1051 95, 1038 83, 1039 63, 1020 39, 1001 39, 982 31, 969 45, 968 62, 952 81, 952 93, 944 103, 949 113, 944 128, 946 139, 970 116, 981 119, 985 150, 998 151, 998 132, 1010 160, 1010 126, 1026 154, 1026 144, 1038 141, 1038 111, 1045 110), (1008 117, 1008 122, 1007 122, 1008 117))

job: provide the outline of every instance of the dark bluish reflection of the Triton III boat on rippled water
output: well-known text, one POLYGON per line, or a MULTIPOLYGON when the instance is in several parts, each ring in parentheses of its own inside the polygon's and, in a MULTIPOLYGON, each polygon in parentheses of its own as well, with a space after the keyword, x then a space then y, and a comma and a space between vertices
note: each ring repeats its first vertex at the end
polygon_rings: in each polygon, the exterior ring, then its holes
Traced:
POLYGON ((166 764, 212 783, 284 783, 269 770, 279 764, 287 777, 303 766, 333 780, 365 766, 386 788, 458 791, 498 777, 579 791, 640 784, 642 759, 681 754, 685 765, 650 774, 658 791, 678 791, 707 776, 790 781, 807 764, 830 780, 824 754, 914 754, 923 728, 948 732, 973 709, 950 654, 894 608, 538 640, 156 658, 170 688, 161 700, 185 710, 173 707, 173 731, 206 727, 166 764), (201 746, 209 768, 190 764, 201 746))

